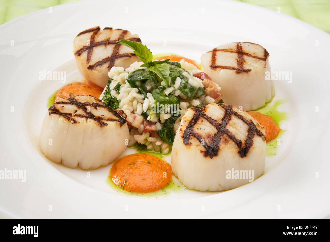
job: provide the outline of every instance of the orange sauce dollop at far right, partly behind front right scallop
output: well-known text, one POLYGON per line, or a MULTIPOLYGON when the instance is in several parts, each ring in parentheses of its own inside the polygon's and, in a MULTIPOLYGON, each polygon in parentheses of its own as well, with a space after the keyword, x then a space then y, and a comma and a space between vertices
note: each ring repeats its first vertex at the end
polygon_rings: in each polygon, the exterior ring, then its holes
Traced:
POLYGON ((266 142, 269 142, 276 138, 280 132, 280 127, 277 126, 276 122, 267 115, 261 114, 259 112, 248 112, 249 115, 256 121, 258 121, 265 128, 266 142))

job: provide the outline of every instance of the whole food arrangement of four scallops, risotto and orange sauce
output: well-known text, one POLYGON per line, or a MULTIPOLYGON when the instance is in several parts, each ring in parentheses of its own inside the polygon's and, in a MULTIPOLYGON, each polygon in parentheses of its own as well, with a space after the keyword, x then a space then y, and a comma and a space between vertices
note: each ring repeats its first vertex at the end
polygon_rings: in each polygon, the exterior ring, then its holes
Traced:
POLYGON ((138 35, 97 26, 78 34, 73 52, 85 80, 60 88, 44 118, 40 147, 51 161, 95 169, 134 144, 172 151, 172 166, 141 150, 113 164, 109 178, 132 193, 164 188, 172 172, 200 191, 229 190, 264 173, 266 142, 281 129, 272 117, 245 112, 275 93, 261 45, 220 45, 201 56, 201 70, 180 55, 154 59, 138 35))

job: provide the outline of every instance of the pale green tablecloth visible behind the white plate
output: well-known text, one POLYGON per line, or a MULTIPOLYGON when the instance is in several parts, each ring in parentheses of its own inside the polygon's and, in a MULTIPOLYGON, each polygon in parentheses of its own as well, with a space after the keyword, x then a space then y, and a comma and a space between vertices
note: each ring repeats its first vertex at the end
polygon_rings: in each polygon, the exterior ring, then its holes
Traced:
MULTIPOLYGON (((0 24, 27 13, 76 0, 0 0, 0 24)), ((280 11, 330 33, 330 0, 240 0, 280 11)))

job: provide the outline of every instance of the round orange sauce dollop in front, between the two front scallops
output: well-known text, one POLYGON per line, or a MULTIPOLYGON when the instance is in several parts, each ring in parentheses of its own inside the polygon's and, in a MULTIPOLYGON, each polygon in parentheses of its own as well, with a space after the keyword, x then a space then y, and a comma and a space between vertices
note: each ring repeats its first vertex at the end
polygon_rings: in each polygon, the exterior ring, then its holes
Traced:
POLYGON ((129 192, 149 193, 162 189, 172 178, 171 165, 150 154, 124 156, 111 168, 112 181, 129 192))

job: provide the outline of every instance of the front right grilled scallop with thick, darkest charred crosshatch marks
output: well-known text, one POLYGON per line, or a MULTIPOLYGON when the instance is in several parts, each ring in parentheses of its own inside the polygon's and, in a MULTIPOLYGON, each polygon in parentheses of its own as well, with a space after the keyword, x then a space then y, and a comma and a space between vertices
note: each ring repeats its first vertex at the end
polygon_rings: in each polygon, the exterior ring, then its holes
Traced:
POLYGON ((190 189, 229 190, 262 175, 265 154, 264 128, 256 120, 231 105, 212 103, 190 108, 182 117, 172 172, 190 189), (232 179, 232 171, 242 176, 232 179))

